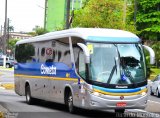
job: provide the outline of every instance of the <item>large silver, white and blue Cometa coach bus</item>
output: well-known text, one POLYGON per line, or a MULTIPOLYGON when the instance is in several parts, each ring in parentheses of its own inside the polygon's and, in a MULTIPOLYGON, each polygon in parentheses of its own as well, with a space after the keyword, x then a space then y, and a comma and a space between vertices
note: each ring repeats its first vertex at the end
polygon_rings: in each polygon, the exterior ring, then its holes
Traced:
POLYGON ((144 109, 147 76, 141 40, 127 31, 74 28, 20 40, 15 49, 15 92, 84 109, 144 109))

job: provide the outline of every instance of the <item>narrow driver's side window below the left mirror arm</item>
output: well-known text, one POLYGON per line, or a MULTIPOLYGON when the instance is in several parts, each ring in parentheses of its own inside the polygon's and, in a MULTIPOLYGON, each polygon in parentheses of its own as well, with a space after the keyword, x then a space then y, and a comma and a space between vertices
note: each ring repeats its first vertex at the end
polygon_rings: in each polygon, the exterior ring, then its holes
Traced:
POLYGON ((79 64, 78 64, 78 73, 79 75, 86 79, 86 67, 85 67, 85 55, 84 53, 81 51, 79 52, 79 64))

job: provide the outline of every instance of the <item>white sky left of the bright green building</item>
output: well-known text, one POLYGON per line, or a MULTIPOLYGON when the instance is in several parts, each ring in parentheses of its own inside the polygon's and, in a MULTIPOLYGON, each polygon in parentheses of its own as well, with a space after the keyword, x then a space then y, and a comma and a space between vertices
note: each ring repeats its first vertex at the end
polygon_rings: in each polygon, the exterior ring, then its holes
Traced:
MULTIPOLYGON (((15 32, 31 32, 38 25, 44 26, 45 0, 7 0, 10 25, 15 32)), ((5 0, 0 0, 0 26, 4 25, 5 0)))

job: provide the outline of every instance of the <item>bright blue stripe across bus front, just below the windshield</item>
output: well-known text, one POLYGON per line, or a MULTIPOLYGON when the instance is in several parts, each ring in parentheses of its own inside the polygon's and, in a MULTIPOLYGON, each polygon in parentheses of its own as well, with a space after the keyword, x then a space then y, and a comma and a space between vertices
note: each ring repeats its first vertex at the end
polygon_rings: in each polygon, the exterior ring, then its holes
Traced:
POLYGON ((134 93, 134 92, 141 91, 145 88, 146 86, 134 88, 134 89, 110 89, 110 88, 103 88, 103 87, 98 87, 93 85, 93 89, 101 90, 104 92, 111 92, 111 93, 134 93))

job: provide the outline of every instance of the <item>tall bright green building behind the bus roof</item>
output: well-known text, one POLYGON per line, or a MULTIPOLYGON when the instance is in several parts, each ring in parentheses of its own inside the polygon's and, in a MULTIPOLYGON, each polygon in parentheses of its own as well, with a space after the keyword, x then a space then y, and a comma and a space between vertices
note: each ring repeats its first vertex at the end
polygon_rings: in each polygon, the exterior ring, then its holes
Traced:
MULTIPOLYGON (((68 0, 46 0, 44 28, 48 31, 64 29, 68 0)), ((85 0, 70 0, 70 11, 82 7, 85 0)))

